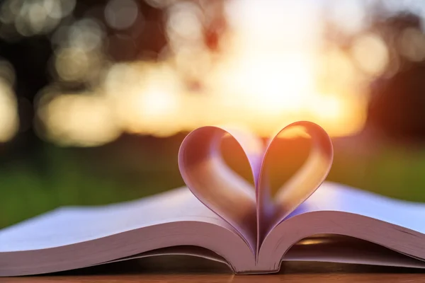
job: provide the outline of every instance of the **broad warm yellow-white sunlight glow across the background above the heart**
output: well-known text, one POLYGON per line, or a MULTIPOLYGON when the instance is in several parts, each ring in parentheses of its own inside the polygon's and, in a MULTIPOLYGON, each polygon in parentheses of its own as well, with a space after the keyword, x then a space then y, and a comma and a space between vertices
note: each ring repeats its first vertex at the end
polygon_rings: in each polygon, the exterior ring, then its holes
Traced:
MULTIPOLYGON (((390 56, 378 35, 356 37, 353 47, 344 49, 323 39, 319 1, 229 0, 222 15, 228 27, 212 48, 205 40, 210 2, 160 2, 147 1, 166 6, 166 46, 157 59, 144 54, 133 61, 108 58, 102 49, 111 43, 106 25, 92 18, 52 36, 57 45, 52 74, 87 90, 58 93, 37 106, 48 139, 95 146, 121 132, 168 137, 217 124, 248 127, 268 137, 298 120, 317 122, 333 137, 363 129, 365 81, 382 74, 390 56)), ((137 1, 109 0, 101 13, 108 28, 128 30, 148 25, 139 8, 137 1)), ((361 29, 358 4, 336 5, 331 21, 351 10, 356 21, 342 28, 361 29)), ((400 48, 412 61, 425 56, 421 36, 416 30, 402 34, 400 48)))

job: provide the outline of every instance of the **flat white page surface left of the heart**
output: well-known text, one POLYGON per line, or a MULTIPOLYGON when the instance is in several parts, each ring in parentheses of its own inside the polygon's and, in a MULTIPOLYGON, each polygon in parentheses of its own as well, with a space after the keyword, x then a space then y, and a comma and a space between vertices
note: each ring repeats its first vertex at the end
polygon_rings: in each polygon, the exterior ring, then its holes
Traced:
POLYGON ((173 221, 203 221, 232 229, 186 188, 100 207, 62 207, 0 230, 0 253, 89 241, 173 221))

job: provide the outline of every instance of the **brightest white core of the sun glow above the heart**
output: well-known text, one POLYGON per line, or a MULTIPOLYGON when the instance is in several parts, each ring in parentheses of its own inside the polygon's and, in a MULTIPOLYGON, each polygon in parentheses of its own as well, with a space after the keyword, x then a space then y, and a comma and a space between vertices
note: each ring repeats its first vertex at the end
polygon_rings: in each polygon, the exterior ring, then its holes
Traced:
MULTIPOLYGON (((302 107, 312 87, 312 74, 302 57, 239 57, 229 69, 219 69, 221 93, 240 96, 249 110, 261 115, 279 115, 302 107)), ((228 99, 228 98, 227 98, 228 99)))

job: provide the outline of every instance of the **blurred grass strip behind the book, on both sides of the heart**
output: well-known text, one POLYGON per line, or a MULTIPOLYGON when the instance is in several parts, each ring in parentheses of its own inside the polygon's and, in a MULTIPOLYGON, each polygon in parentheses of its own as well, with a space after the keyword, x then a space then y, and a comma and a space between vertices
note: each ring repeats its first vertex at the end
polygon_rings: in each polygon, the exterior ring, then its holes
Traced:
MULTIPOLYGON (((126 153, 47 145, 42 166, 26 161, 8 163, 0 172, 0 228, 64 205, 122 202, 181 186, 176 158, 180 142, 181 137, 160 141, 159 146, 138 145, 126 153)), ((380 144, 363 151, 342 144, 335 144, 327 180, 425 202, 425 147, 380 144)), ((273 170, 280 175, 285 175, 281 174, 284 171, 290 175, 293 168, 287 165, 303 158, 288 149, 298 157, 288 157, 288 151, 280 153, 283 156, 276 153, 279 166, 273 170)))

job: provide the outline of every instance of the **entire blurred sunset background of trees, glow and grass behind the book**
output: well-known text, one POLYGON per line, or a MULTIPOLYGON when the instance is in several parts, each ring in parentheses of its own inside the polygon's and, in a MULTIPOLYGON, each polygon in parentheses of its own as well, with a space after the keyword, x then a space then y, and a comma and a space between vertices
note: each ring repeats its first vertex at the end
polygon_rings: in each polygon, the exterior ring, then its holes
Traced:
MULTIPOLYGON (((181 141, 217 123, 266 139, 312 120, 328 180, 425 202, 424 17, 420 0, 1 1, 0 228, 183 185, 181 141)), ((307 151, 282 141, 276 184, 307 151)))

